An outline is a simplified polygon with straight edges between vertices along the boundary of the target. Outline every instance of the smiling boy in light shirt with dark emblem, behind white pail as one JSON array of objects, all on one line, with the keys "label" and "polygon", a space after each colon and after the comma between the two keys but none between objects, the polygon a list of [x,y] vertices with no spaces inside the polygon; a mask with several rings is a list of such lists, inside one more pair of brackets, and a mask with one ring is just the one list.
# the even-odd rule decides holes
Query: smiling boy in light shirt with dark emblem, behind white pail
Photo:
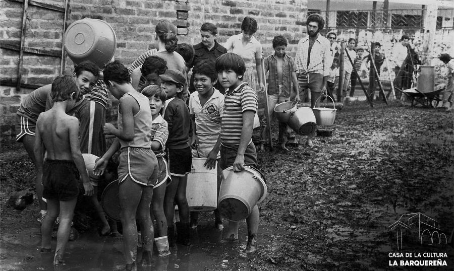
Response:
[{"label": "smiling boy in light shirt with dark emblem, behind white pail", "polygon": [[[219,133],[224,108],[224,95],[214,85],[217,74],[214,61],[197,63],[193,68],[193,84],[196,91],[189,97],[189,112],[192,119],[193,134],[191,137],[192,158],[206,158],[204,166],[212,169],[219,162]],[[221,169],[217,167],[217,193],[219,193]],[[191,212],[191,226],[197,227],[198,212]],[[222,230],[222,218],[214,210],[214,226]]]}]

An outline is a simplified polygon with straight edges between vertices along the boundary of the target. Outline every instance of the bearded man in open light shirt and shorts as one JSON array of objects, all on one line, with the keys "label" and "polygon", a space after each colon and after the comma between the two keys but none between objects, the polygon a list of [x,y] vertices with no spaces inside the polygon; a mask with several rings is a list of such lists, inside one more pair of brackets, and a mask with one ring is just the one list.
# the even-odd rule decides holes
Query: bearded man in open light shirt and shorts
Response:
[{"label": "bearded man in open light shirt and shorts", "polygon": [[[319,34],[325,25],[323,17],[319,14],[311,14],[306,20],[306,25],[309,36],[298,43],[295,63],[298,83],[303,91],[310,89],[311,105],[314,107],[321,93],[326,93],[332,57],[329,41]],[[315,129],[308,135],[306,143],[309,147],[313,146],[314,137]]]}]

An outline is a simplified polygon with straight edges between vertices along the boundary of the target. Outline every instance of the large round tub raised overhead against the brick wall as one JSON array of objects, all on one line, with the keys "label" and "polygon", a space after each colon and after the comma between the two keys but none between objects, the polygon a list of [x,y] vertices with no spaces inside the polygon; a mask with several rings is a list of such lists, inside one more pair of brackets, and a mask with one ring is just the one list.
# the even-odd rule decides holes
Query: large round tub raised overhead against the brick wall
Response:
[{"label": "large round tub raised overhead against the brick wall", "polygon": [[75,64],[90,60],[100,68],[117,48],[113,28],[102,20],[84,18],[72,23],[65,32],[65,49]]}]

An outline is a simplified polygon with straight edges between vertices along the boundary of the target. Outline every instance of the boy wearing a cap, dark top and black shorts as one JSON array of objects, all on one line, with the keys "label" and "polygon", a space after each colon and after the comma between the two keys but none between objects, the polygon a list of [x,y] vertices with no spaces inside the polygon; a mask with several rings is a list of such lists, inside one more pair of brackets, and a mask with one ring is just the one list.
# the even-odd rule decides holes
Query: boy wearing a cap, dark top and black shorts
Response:
[{"label": "boy wearing a cap, dark top and black shorts", "polygon": [[161,78],[161,89],[168,100],[164,109],[164,120],[168,124],[168,139],[165,148],[168,150],[169,168],[172,182],[167,186],[164,196],[164,212],[167,218],[167,236],[169,245],[175,247],[174,239],[174,201],[177,202],[180,222],[177,226],[177,243],[189,243],[189,206],[186,199],[188,173],[191,172],[192,154],[189,136],[192,134],[189,108],[183,100],[183,89],[186,77],[177,70],[167,70]]}]

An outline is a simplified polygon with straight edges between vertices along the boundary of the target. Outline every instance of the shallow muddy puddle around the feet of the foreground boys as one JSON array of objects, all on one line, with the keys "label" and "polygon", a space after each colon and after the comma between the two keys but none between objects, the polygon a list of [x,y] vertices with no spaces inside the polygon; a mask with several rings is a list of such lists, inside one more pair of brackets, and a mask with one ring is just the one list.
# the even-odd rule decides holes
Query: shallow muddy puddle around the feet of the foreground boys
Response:
[{"label": "shallow muddy puddle around the feet of the foreground boys", "polygon": [[[226,227],[226,223],[224,223]],[[259,226],[259,248],[272,245],[277,231]],[[239,241],[222,241],[222,231],[211,224],[201,223],[191,231],[192,245],[178,246],[178,251],[168,257],[153,255],[151,266],[137,270],[239,270],[249,269],[249,261],[257,256],[243,253],[247,241],[247,228],[240,224]],[[122,270],[125,266],[121,237],[100,237],[85,232],[76,241],[68,242],[66,264],[54,267],[53,252],[40,252],[40,229],[30,228],[18,234],[2,235],[0,252],[1,270]],[[52,248],[56,240],[52,239]],[[137,262],[141,261],[141,248]],[[260,251],[260,250],[259,250]]]}]

